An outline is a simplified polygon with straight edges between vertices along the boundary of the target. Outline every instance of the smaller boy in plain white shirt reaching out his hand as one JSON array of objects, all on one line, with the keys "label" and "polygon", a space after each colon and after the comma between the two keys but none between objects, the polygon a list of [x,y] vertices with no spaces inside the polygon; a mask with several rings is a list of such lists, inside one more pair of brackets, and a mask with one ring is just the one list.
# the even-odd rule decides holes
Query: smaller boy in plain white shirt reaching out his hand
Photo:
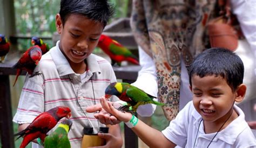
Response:
[{"label": "smaller boy in plain white shirt reaching out his hand", "polygon": [[[198,55],[188,74],[193,100],[161,132],[129,112],[113,108],[104,97],[100,102],[105,111],[125,122],[150,147],[256,147],[244,113],[234,104],[241,102],[246,92],[241,59],[231,51],[211,48]],[[102,109],[97,107],[87,111]],[[100,114],[95,116],[100,118]],[[113,116],[109,119],[117,123]]]}]

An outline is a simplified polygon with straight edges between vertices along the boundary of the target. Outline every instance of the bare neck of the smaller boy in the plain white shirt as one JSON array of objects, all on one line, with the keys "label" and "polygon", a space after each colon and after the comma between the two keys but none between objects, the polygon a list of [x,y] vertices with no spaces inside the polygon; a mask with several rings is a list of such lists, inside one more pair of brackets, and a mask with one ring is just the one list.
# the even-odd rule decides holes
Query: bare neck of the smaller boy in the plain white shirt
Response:
[{"label": "bare neck of the smaller boy in the plain white shirt", "polygon": [[[228,118],[228,120],[226,121],[227,118],[223,119],[223,122],[207,122],[204,121],[204,131],[205,133],[214,133],[214,132],[218,132],[218,130],[220,129],[220,127],[224,124],[224,122],[226,121],[226,123],[223,125],[223,127],[220,129],[223,130],[227,127],[227,125],[229,125],[232,121],[234,121],[235,118],[237,118],[239,115],[237,114],[237,112],[233,109],[232,115],[230,116],[230,118]],[[227,116],[228,117],[228,116]]]}]

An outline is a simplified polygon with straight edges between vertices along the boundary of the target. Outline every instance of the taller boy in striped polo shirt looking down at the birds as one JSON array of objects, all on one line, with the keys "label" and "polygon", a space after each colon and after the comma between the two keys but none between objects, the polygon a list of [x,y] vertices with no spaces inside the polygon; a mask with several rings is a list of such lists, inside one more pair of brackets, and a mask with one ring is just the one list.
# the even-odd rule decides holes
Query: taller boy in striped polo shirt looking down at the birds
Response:
[{"label": "taller boy in striped polo shirt looking down at the birds", "polygon": [[[105,126],[99,125],[93,114],[85,109],[98,103],[105,88],[116,81],[110,63],[92,54],[112,13],[107,0],[60,2],[56,15],[60,40],[43,55],[34,70],[39,74],[26,76],[13,119],[19,124],[18,131],[25,129],[42,112],[58,105],[69,107],[72,112],[71,147],[81,147],[85,126],[92,126],[94,133],[99,131],[99,126]],[[106,146],[121,147],[119,125],[109,128],[109,133],[102,137],[107,141]],[[36,139],[33,142],[32,147],[41,147]]]}]

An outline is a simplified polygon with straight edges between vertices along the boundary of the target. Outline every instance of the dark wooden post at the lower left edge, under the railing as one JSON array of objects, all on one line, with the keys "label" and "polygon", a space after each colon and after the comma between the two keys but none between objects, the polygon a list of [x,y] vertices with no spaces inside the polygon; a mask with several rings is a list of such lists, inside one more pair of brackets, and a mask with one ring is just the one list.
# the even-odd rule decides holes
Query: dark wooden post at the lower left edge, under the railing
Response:
[{"label": "dark wooden post at the lower left edge, under the railing", "polygon": [[14,147],[9,75],[0,75],[0,130],[3,148]]}]

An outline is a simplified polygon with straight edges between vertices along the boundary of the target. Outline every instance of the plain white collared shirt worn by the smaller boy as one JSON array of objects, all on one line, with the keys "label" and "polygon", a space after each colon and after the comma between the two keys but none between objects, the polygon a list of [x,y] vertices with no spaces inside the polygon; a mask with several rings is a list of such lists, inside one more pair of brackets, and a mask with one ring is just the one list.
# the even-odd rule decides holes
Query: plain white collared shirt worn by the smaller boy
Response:
[{"label": "plain white collared shirt worn by the smaller boy", "polygon": [[[256,147],[255,137],[245,121],[244,112],[237,105],[234,105],[234,110],[239,116],[216,135],[209,147]],[[162,133],[181,147],[207,147],[216,132],[205,133],[203,122],[200,124],[201,119],[190,101]]]}]

